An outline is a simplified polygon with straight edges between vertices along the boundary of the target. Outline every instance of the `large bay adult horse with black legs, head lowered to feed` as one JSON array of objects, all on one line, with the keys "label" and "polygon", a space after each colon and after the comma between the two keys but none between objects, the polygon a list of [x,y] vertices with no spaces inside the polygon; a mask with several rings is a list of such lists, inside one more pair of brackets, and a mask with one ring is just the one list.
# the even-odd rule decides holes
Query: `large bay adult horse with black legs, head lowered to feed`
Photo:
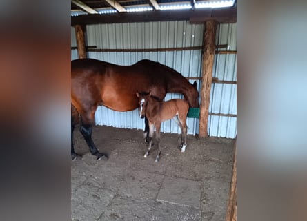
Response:
[{"label": "large bay adult horse with black legs, head lowered to feed", "polygon": [[199,106],[196,81],[190,84],[176,70],[155,61],[141,60],[131,66],[119,66],[95,59],[77,59],[71,62],[71,80],[72,160],[77,158],[73,145],[76,117],[80,118],[80,132],[92,155],[97,160],[108,157],[99,153],[92,141],[92,125],[99,105],[115,111],[132,111],[139,106],[137,91],[150,90],[159,99],[164,99],[168,92],[182,93],[191,107]]}]

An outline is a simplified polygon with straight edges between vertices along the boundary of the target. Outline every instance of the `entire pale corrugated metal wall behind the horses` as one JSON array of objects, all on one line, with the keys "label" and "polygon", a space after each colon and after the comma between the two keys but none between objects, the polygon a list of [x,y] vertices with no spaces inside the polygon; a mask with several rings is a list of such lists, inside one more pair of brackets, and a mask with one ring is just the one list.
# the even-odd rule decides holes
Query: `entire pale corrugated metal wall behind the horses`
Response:
[{"label": "entire pale corrugated metal wall behind the horses", "polygon": [[[236,50],[235,24],[218,27],[217,44],[228,44],[228,50]],[[152,49],[178,48],[203,45],[204,26],[190,24],[189,21],[163,21],[148,23],[116,23],[86,26],[88,46],[99,49]],[[72,28],[72,46],[76,46],[75,29]],[[184,77],[201,77],[201,50],[176,50],[167,52],[88,52],[88,57],[114,64],[130,65],[141,59],[150,59],[174,68]],[[77,50],[72,50],[72,59],[77,59]],[[236,80],[236,56],[217,55],[213,77],[220,80]],[[192,83],[194,80],[190,80]],[[197,88],[200,91],[200,80]],[[237,90],[230,84],[212,84],[210,112],[236,114]],[[166,100],[182,98],[179,94],[166,95]],[[231,107],[230,107],[231,106]],[[96,124],[119,128],[143,129],[143,119],[137,110],[128,112],[112,111],[99,107],[95,113]],[[236,117],[210,116],[208,131],[210,136],[234,138]],[[199,131],[199,119],[188,118],[188,134]],[[225,127],[225,128],[224,128]],[[164,122],[161,131],[180,133],[173,121]]]}]

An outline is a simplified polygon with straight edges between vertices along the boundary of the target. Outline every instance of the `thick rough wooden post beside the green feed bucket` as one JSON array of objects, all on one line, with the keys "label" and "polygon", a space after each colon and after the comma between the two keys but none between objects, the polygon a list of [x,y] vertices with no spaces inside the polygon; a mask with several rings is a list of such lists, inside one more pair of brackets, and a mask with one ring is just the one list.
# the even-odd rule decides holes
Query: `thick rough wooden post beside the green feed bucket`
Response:
[{"label": "thick rough wooden post beside the green feed bucket", "polygon": [[210,104],[210,89],[212,82],[212,70],[215,60],[215,35],[217,32],[217,22],[206,21],[204,35],[204,56],[201,80],[201,104],[199,114],[199,137],[208,136],[208,115]]}]

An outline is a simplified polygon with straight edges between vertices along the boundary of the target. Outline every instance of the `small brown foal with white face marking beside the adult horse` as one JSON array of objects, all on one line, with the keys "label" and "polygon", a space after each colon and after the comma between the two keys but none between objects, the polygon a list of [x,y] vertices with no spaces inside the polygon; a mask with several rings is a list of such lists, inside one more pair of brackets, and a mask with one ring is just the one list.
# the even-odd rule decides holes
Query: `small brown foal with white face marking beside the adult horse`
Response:
[{"label": "small brown foal with white face marking beside the adult horse", "polygon": [[152,137],[156,128],[156,140],[157,140],[157,156],[155,162],[159,161],[160,151],[160,129],[161,122],[165,122],[168,119],[175,119],[175,122],[181,129],[181,144],[179,149],[181,152],[186,151],[186,133],[188,127],[186,126],[186,116],[188,114],[188,102],[183,99],[171,99],[167,102],[163,102],[157,97],[151,96],[151,93],[138,93],[139,97],[139,117],[147,117],[149,124],[149,143],[148,151],[144,157],[149,155],[149,151],[152,146]]}]

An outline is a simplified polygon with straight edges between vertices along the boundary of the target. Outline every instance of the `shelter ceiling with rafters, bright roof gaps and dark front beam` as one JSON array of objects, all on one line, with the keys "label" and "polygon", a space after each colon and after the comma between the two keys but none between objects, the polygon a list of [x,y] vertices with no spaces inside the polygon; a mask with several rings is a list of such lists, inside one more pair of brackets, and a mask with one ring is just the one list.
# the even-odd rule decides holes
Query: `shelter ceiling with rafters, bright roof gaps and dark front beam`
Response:
[{"label": "shelter ceiling with rafters, bright roof gaps and dark front beam", "polygon": [[[226,3],[226,5],[222,5]],[[215,19],[233,23],[236,0],[71,0],[72,26],[91,23]]]}]

